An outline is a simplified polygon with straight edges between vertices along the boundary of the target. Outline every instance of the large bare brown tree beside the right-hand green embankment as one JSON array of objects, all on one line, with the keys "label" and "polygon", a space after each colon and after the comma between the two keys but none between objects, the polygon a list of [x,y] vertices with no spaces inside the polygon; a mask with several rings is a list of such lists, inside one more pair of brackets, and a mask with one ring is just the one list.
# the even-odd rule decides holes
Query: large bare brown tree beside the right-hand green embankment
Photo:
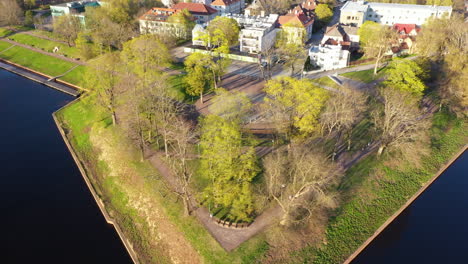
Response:
[{"label": "large bare brown tree beside the right-hand green embankment", "polygon": [[399,148],[422,138],[429,128],[426,117],[419,110],[417,98],[397,89],[380,90],[383,106],[373,112],[374,125],[379,132],[381,155],[386,148]]}]

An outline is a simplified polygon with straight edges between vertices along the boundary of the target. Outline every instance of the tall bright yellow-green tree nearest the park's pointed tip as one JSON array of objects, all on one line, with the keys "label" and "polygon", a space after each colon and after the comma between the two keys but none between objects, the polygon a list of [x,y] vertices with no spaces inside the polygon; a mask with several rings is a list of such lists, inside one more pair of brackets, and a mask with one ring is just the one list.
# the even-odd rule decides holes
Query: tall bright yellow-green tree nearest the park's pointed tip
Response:
[{"label": "tall bright yellow-green tree nearest the park's pointed tip", "polygon": [[200,173],[211,179],[204,197],[216,207],[229,208],[231,217],[237,220],[251,220],[250,185],[259,173],[253,147],[242,147],[237,121],[208,115],[202,120],[201,132]]}]

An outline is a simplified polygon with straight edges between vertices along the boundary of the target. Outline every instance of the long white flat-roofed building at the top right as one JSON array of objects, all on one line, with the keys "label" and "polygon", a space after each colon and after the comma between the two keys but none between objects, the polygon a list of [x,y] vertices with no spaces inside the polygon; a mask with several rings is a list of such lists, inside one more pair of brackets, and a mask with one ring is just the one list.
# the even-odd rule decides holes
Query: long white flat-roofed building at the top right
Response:
[{"label": "long white flat-roofed building at the top right", "polygon": [[450,17],[451,14],[451,6],[348,1],[341,8],[340,23],[358,27],[365,21],[389,26],[397,23],[422,25],[429,18]]}]

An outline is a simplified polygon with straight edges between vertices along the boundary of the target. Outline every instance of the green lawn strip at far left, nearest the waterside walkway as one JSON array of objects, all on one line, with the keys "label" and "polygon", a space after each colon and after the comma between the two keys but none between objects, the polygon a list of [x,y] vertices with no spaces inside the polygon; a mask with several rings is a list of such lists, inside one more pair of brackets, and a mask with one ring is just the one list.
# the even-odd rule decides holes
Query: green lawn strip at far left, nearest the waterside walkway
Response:
[{"label": "green lawn strip at far left, nearest the waterside walkway", "polygon": [[0,53],[0,58],[50,76],[59,76],[76,65],[18,46]]}]

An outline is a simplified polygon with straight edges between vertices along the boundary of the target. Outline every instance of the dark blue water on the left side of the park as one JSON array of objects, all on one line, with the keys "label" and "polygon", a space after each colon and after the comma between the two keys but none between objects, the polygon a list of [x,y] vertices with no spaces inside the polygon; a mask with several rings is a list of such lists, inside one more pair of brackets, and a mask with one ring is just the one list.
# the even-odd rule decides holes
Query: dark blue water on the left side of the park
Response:
[{"label": "dark blue water on the left side of the park", "polygon": [[0,70],[0,263],[131,263],[53,122],[72,99]]}]

